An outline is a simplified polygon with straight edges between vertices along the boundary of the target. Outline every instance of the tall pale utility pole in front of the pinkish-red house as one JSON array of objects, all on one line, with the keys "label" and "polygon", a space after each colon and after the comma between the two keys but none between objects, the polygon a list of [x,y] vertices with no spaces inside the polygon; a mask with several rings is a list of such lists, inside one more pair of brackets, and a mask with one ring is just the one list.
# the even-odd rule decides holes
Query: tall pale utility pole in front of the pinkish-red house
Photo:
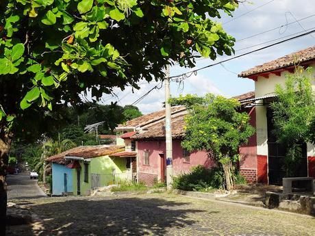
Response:
[{"label": "tall pale utility pole in front of the pinkish-red house", "polygon": [[165,79],[165,139],[166,139],[166,185],[170,189],[172,187],[173,176],[173,144],[171,129],[171,88],[170,88],[170,66],[166,68]]}]

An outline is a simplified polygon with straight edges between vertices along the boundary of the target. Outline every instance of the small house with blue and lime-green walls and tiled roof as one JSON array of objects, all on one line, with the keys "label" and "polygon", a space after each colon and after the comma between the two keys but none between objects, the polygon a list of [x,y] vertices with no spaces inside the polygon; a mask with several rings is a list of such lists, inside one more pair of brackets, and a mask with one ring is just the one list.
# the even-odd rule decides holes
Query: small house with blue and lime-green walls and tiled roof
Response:
[{"label": "small house with blue and lime-green walls and tiled roof", "polygon": [[123,146],[79,146],[49,157],[53,195],[88,196],[95,187],[131,181]]}]

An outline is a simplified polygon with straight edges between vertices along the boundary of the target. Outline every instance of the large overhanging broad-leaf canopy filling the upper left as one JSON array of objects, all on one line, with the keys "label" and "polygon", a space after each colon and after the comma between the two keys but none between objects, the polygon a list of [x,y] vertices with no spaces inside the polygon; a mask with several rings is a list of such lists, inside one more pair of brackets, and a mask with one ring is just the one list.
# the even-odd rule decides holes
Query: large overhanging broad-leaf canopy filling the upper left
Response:
[{"label": "large overhanging broad-leaf canopy filling the upper left", "polygon": [[[164,77],[171,62],[231,55],[234,38],[220,23],[238,3],[215,1],[6,0],[0,3],[0,119],[26,120],[22,109],[58,109],[97,100],[112,88],[138,88]],[[3,125],[2,125],[3,126]]]}]

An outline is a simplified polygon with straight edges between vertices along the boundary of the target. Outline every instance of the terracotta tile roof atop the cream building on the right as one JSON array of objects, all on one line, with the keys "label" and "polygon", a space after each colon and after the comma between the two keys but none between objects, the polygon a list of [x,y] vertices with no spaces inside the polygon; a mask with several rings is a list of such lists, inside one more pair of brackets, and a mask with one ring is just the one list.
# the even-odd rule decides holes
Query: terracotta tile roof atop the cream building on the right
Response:
[{"label": "terracotta tile roof atop the cream building on the right", "polygon": [[246,78],[250,75],[267,73],[273,70],[294,66],[294,64],[301,64],[309,61],[315,61],[315,46],[280,57],[277,60],[266,62],[260,66],[255,66],[254,68],[243,71],[240,75],[238,75],[238,77]]}]

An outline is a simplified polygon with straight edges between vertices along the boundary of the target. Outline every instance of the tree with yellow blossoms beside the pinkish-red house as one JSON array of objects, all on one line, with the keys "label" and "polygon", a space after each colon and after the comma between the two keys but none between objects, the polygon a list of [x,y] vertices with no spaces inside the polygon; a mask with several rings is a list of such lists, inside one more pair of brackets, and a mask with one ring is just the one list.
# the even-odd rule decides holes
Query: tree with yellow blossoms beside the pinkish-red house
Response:
[{"label": "tree with yellow blossoms beside the pinkish-red house", "polygon": [[173,103],[186,105],[186,133],[181,146],[189,151],[206,150],[225,172],[227,189],[233,188],[234,167],[238,148],[248,142],[255,129],[249,124],[247,112],[240,111],[236,99],[207,94],[180,96]]}]

